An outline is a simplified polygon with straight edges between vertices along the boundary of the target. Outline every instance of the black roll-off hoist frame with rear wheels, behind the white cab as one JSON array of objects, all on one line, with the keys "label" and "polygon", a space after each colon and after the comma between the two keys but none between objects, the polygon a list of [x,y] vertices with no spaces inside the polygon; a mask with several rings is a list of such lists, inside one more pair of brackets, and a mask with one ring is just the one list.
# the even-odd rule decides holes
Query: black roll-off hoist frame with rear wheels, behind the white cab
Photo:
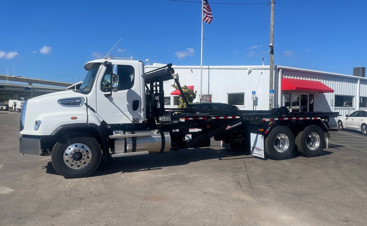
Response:
[{"label": "black roll-off hoist frame with rear wheels, behind the white cab", "polygon": [[[164,108],[163,82],[174,79],[185,101],[184,109]],[[254,149],[250,136],[264,140],[269,158],[287,159],[296,146],[303,156],[319,156],[327,148],[328,121],[337,112],[289,112],[287,107],[272,110],[193,109],[190,107],[172,64],[145,74],[147,99],[146,127],[168,130],[171,150],[210,146],[210,138],[232,148]],[[149,86],[148,86],[149,85]],[[148,91],[147,90],[147,91]],[[254,150],[251,150],[253,153]]]}]

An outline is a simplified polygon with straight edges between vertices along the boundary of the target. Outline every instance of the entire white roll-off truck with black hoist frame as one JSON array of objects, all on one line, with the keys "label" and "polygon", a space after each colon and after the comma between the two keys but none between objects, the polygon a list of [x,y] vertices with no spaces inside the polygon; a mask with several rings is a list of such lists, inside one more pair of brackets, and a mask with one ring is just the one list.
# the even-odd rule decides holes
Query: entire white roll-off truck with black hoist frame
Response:
[{"label": "entire white roll-off truck with black hoist frame", "polygon": [[[116,57],[84,65],[78,92],[62,91],[23,103],[21,153],[51,154],[65,178],[90,175],[101,157],[165,153],[210,146],[210,139],[250,150],[260,158],[284,160],[292,152],[319,156],[327,148],[334,112],[177,109],[164,107],[163,82],[174,80],[187,101],[172,64],[144,72],[141,61]],[[41,106],[50,106],[42,109]]]}]

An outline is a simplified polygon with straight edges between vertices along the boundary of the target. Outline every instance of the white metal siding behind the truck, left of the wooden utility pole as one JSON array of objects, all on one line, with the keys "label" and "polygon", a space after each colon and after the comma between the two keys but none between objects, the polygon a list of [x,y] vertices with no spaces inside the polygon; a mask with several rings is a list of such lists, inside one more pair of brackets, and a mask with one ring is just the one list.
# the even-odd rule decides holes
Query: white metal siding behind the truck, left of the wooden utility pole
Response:
[{"label": "white metal siding behind the truck, left of the wooden utility pole", "polygon": [[[245,93],[245,105],[241,110],[252,110],[251,92],[256,91],[258,97],[256,110],[267,110],[269,108],[269,66],[264,68],[251,66],[240,66],[229,68],[230,66],[203,66],[203,95],[211,94],[212,102],[227,103],[227,94]],[[157,68],[145,66],[146,71]],[[200,95],[200,67],[195,66],[172,66],[175,73],[178,73],[181,86],[194,85],[196,99],[199,102]],[[249,74],[247,68],[252,71]],[[192,70],[192,71],[191,71]],[[170,96],[175,88],[171,87],[174,80],[169,80],[163,84],[165,94]],[[173,98],[171,98],[173,106]]]}]

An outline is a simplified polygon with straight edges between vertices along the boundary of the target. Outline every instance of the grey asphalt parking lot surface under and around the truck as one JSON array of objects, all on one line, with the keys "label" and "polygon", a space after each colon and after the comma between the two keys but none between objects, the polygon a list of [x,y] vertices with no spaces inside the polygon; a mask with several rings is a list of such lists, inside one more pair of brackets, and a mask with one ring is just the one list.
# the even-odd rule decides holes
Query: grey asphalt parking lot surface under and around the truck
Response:
[{"label": "grey asphalt parking lot surface under and around the truck", "polygon": [[19,117],[0,113],[0,225],[367,222],[367,139],[355,132],[333,132],[315,158],[262,160],[212,141],[102,161],[89,178],[65,179],[50,156],[19,153]]}]

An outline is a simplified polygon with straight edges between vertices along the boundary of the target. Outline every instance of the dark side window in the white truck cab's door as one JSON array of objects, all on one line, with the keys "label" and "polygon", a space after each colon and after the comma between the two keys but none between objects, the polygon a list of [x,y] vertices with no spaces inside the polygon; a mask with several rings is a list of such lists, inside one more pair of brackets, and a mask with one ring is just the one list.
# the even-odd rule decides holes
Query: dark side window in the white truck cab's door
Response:
[{"label": "dark side window in the white truck cab's door", "polygon": [[[106,69],[101,83],[102,92],[110,92],[110,80],[112,74],[112,66]],[[117,76],[119,77],[119,82],[117,84],[118,90],[128,90],[134,85],[134,67],[130,65],[118,65],[117,66]]]}]

